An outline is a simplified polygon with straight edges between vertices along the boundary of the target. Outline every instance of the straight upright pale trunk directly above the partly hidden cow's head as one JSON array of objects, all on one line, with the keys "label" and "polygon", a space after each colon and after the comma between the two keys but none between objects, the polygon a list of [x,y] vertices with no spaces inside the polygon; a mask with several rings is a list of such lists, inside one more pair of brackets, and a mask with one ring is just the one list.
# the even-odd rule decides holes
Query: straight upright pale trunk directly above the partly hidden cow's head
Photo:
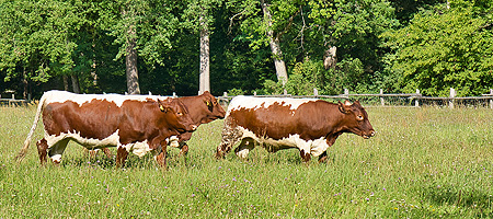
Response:
[{"label": "straight upright pale trunk directly above the partly hidden cow's head", "polygon": [[198,93],[202,94],[205,91],[210,91],[210,77],[209,77],[209,27],[205,20],[204,12],[200,14],[200,69],[199,69],[199,83]]}]

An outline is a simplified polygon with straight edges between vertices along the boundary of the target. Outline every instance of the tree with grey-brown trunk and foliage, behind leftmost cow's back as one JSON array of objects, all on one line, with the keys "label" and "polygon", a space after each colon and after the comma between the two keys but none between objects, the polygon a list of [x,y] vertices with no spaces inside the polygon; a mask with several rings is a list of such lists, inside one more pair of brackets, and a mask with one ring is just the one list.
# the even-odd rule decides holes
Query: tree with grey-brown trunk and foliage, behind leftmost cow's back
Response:
[{"label": "tree with grey-brown trunk and foliage, behind leftmost cow's back", "polygon": [[179,20],[173,13],[174,1],[119,0],[103,1],[100,21],[103,30],[119,45],[116,59],[126,57],[128,93],[139,93],[139,57],[146,66],[163,65],[162,53],[171,48]]}]

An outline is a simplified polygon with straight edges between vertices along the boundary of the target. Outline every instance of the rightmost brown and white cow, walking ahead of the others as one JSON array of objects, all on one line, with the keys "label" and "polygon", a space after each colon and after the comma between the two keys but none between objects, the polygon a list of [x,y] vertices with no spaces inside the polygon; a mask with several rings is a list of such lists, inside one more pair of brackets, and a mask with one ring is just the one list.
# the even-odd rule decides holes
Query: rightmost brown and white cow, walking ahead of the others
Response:
[{"label": "rightmost brown and white cow, walking ahead of the others", "polygon": [[241,140],[234,152],[243,159],[260,143],[270,152],[297,148],[303,162],[311,155],[320,155],[323,162],[326,149],[343,132],[375,136],[358,101],[333,104],[317,99],[237,96],[226,113],[216,158],[223,158]]}]

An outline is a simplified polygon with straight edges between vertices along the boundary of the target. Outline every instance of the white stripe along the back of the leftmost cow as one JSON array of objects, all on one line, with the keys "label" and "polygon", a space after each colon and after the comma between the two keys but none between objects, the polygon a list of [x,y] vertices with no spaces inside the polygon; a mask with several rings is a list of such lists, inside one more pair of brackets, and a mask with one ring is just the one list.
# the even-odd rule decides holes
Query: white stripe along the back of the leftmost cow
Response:
[{"label": "white stripe along the back of the leftmost cow", "polygon": [[122,107],[122,104],[128,100],[145,102],[148,99],[151,100],[159,99],[161,101],[168,99],[165,96],[158,96],[158,95],[77,94],[67,91],[48,91],[45,92],[44,95],[46,95],[45,104],[65,103],[67,101],[72,101],[78,103],[79,106],[82,106],[84,103],[90,103],[93,100],[101,100],[101,101],[105,100],[107,102],[114,102],[118,107]]}]

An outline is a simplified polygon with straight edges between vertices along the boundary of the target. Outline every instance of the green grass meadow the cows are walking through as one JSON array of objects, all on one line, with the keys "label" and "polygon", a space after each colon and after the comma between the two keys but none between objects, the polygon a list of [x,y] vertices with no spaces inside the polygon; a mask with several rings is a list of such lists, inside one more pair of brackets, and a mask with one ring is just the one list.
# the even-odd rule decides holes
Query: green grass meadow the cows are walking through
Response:
[{"label": "green grass meadow the cows are walking through", "polygon": [[493,218],[489,108],[369,107],[376,137],[343,135],[308,166],[297,150],[262,148],[217,161],[216,120],[186,160],[169,149],[167,171],[150,154],[115,169],[73,142],[60,166],[41,168],[42,126],[19,164],[34,112],[0,108],[0,218]]}]

